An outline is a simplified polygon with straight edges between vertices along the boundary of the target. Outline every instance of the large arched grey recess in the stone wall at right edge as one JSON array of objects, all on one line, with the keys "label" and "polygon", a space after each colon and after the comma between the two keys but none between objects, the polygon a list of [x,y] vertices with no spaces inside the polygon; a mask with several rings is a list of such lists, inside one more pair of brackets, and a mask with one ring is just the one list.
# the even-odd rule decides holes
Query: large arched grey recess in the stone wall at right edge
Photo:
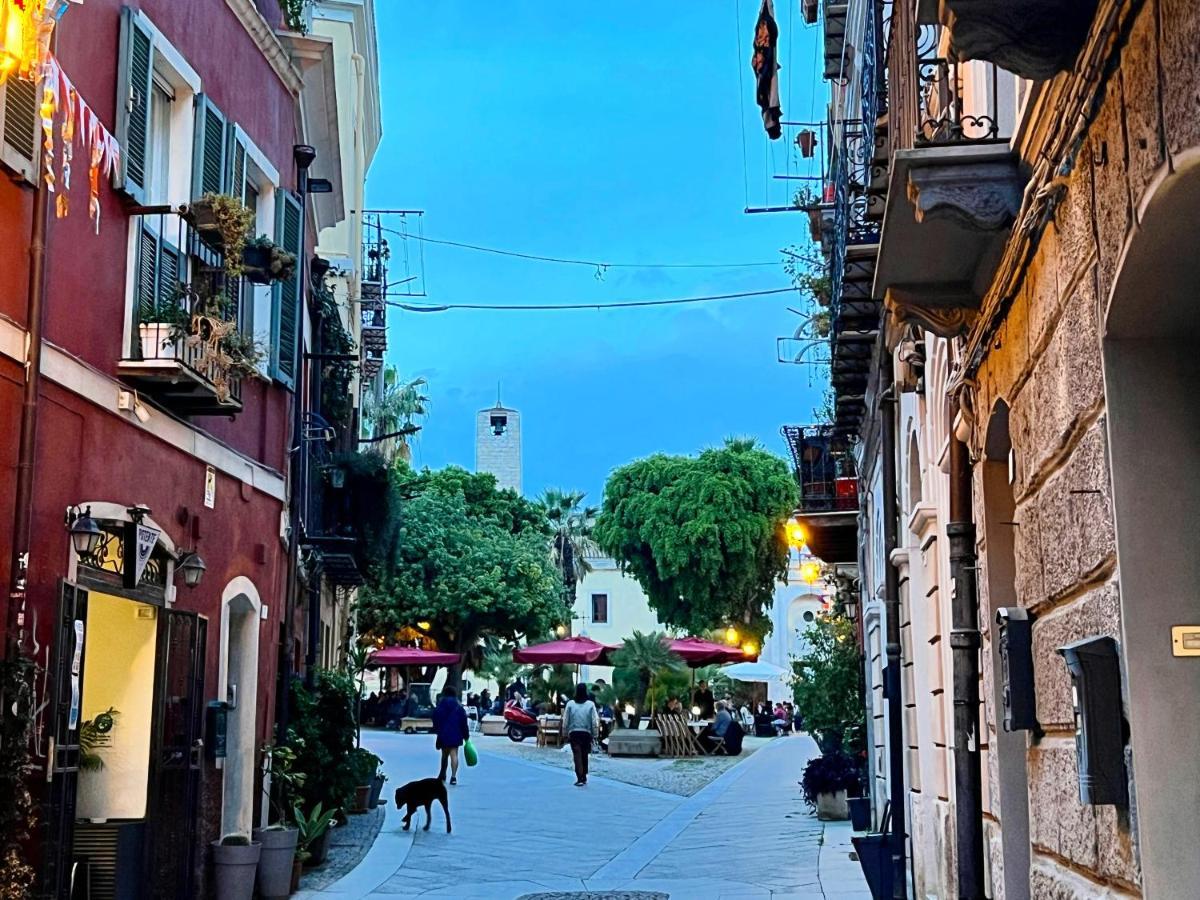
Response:
[{"label": "large arched grey recess in the stone wall at right edge", "polygon": [[[1200,883],[1200,659],[1172,628],[1200,623],[1200,148],[1146,191],[1109,298],[1104,391],[1142,889]],[[1103,470],[1098,473],[1103,476]]]}]

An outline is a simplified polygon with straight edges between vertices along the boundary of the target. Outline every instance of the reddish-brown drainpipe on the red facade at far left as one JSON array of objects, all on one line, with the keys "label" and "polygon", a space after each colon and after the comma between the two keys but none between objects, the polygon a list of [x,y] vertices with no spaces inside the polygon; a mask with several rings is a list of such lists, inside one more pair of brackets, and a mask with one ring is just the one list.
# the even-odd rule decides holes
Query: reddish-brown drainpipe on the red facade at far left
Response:
[{"label": "reddish-brown drainpipe on the red facade at far left", "polygon": [[50,192],[43,175],[46,157],[41,145],[35,164],[37,190],[29,239],[29,293],[25,313],[25,385],[20,403],[20,438],[17,451],[17,490],[12,516],[12,559],[8,569],[8,605],[5,620],[5,659],[16,661],[25,653],[25,598],[29,588],[29,553],[34,524],[34,467],[37,462],[37,401],[42,388],[42,332],[46,325],[46,223]]}]

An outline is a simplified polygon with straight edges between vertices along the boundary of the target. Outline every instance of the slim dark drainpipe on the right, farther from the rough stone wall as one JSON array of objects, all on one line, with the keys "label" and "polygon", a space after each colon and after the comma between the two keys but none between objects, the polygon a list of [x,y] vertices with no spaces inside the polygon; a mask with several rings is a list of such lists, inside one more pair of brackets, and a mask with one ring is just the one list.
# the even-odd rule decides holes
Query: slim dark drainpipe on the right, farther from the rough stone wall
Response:
[{"label": "slim dark drainpipe on the right, farther from the rough stone wall", "polygon": [[887,658],[883,696],[888,701],[888,772],[892,800],[892,896],[908,896],[905,865],[904,691],[900,674],[900,572],[892,565],[896,548],[896,394],[892,352],[884,347],[880,361],[880,424],[883,463],[883,602],[887,608]]}]

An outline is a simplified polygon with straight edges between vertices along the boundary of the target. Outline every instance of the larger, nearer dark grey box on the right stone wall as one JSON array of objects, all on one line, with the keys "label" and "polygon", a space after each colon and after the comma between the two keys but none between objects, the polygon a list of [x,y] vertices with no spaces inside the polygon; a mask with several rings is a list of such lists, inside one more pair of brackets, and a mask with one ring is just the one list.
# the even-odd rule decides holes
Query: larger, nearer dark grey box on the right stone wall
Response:
[{"label": "larger, nearer dark grey box on the right stone wall", "polygon": [[1079,802],[1124,806],[1129,790],[1117,642],[1111,637],[1085,637],[1060,647],[1058,653],[1070,672]]}]

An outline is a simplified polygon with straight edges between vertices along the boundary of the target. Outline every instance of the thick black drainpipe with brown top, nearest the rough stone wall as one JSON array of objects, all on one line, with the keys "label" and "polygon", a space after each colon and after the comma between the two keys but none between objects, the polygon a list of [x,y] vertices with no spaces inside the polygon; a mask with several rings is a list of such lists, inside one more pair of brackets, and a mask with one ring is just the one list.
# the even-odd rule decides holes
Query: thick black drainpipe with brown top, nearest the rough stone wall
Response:
[{"label": "thick black drainpipe with brown top, nearest the rough stone wall", "polygon": [[950,434],[950,655],[954,665],[954,835],[962,900],[983,892],[983,780],[979,764],[979,600],[971,511],[971,460]]}]

